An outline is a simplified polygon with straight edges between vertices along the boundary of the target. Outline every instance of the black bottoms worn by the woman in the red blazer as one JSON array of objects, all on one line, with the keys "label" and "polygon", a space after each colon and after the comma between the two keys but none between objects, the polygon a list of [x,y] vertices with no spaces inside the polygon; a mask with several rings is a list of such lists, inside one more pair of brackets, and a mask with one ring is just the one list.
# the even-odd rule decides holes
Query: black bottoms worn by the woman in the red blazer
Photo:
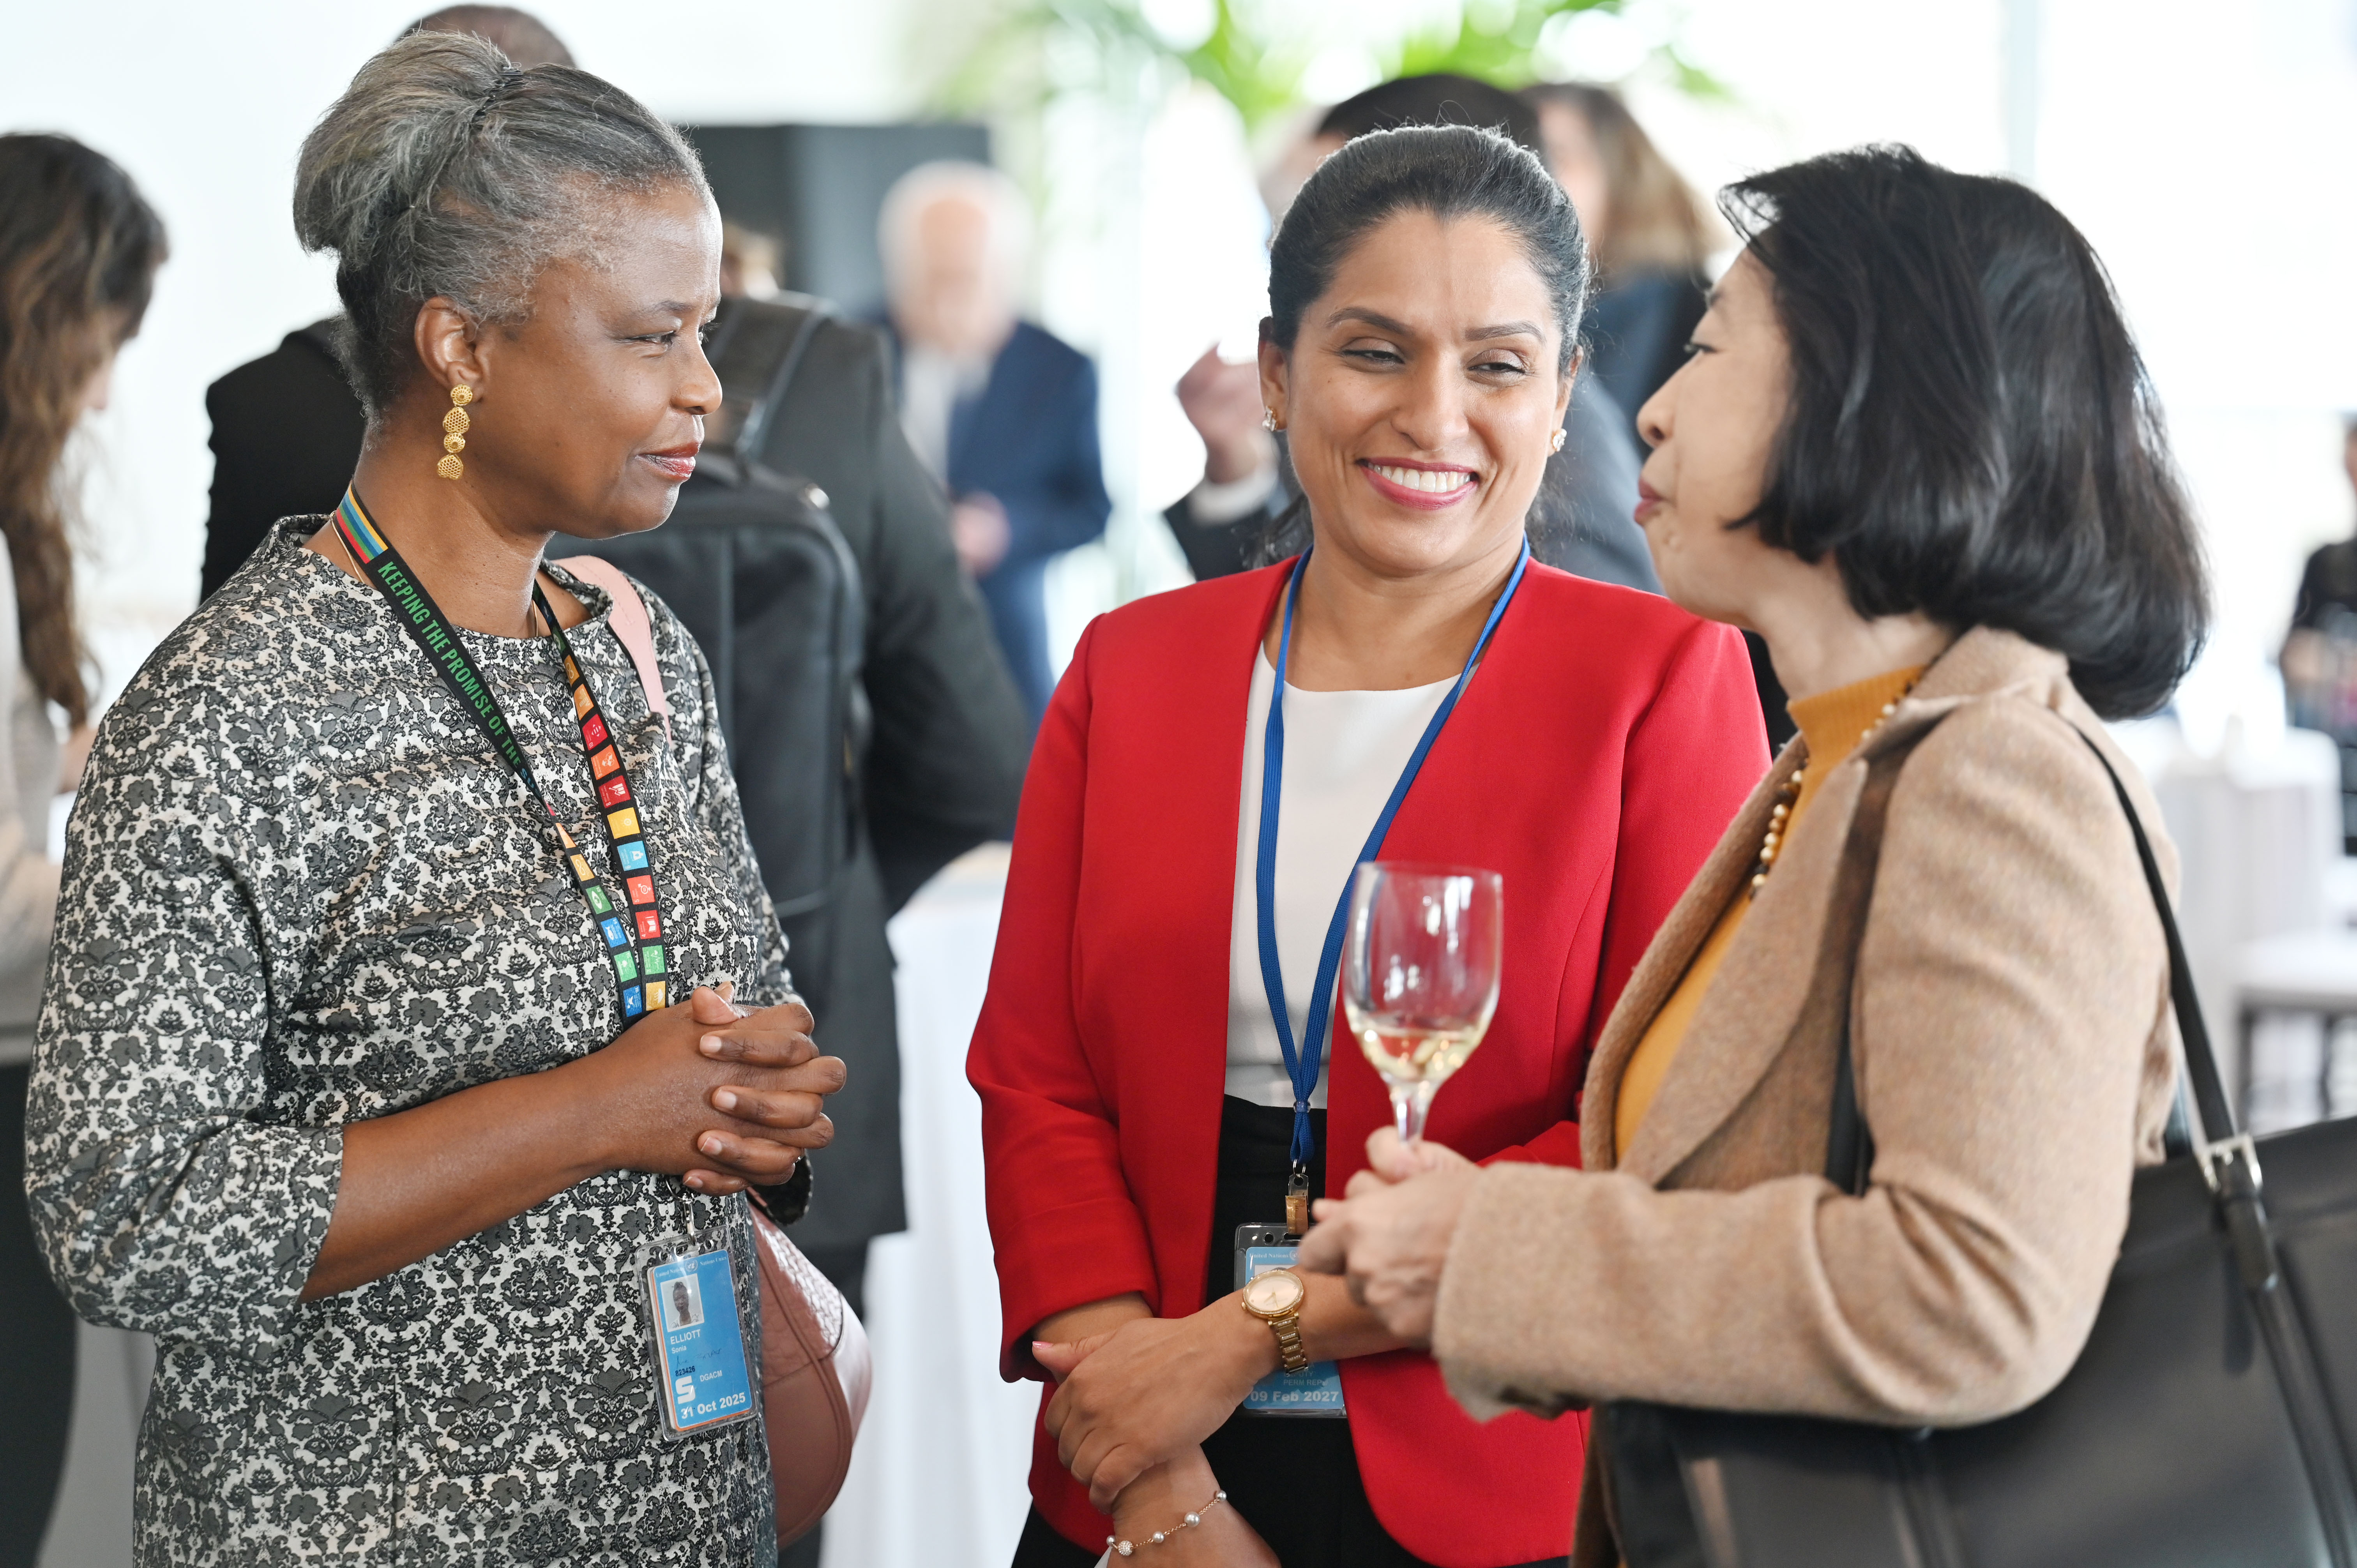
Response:
[{"label": "black bottoms worn by the woman in the red blazer", "polygon": [[[1325,1111],[1310,1111],[1310,1132],[1318,1144],[1310,1158],[1315,1200],[1325,1198]],[[1235,1290],[1235,1226],[1285,1221],[1292,1141],[1292,1111],[1233,1096],[1221,1106],[1204,1304]],[[1228,1493],[1228,1504],[1285,1568],[1426,1568],[1374,1516],[1351,1448],[1351,1422],[1230,1415],[1226,1427],[1204,1438],[1202,1452]],[[1570,1533],[1572,1521],[1565,1518],[1565,1540]],[[1014,1568],[1089,1568],[1101,1551],[1103,1544],[1075,1547],[1032,1509]]]}]

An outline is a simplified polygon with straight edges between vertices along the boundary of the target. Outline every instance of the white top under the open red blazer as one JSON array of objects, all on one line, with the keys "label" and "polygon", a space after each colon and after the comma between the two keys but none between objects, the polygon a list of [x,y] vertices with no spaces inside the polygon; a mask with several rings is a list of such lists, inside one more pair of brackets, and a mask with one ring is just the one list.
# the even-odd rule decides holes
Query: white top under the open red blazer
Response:
[{"label": "white top under the open red blazer", "polygon": [[[1358,851],[1367,844],[1376,813],[1400,783],[1400,769],[1424,738],[1454,677],[1402,691],[1301,691],[1285,686],[1285,799],[1277,802],[1277,957],[1285,967],[1285,1012],[1292,1014],[1294,1047],[1303,1045],[1310,990],[1318,983],[1318,950],[1325,946],[1334,903],[1351,882]],[[1268,653],[1254,660],[1252,703],[1244,717],[1244,797],[1235,825],[1235,913],[1228,934],[1228,1094],[1259,1106],[1287,1108],[1294,1085],[1285,1075],[1285,1049],[1268,1014],[1261,983],[1261,927],[1254,865],[1261,846],[1261,757],[1268,733],[1268,698],[1277,672]],[[1334,1007],[1341,1007],[1336,1000]],[[1327,1014],[1332,1019],[1332,1014]],[[1327,1075],[1318,1075],[1313,1106],[1327,1103]]]}]

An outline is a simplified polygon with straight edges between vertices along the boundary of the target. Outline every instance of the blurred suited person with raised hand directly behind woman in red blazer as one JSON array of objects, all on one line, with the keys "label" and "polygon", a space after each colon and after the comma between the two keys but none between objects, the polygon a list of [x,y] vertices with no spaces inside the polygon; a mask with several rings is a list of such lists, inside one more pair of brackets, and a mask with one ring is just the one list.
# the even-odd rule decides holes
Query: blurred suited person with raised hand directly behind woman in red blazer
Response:
[{"label": "blurred suited person with raised hand directly behind woman in red blazer", "polygon": [[[1485,125],[1541,153],[1539,118],[1511,92],[1471,75],[1402,75],[1343,99],[1320,116],[1287,160],[1315,167],[1334,149],[1393,125]],[[1299,186],[1294,186],[1299,189]],[[1287,191],[1289,196],[1289,191]],[[1273,215],[1282,219],[1282,212]],[[1584,219],[1582,219],[1584,222]],[[1301,547],[1299,516],[1280,521],[1299,495],[1282,443],[1261,429],[1259,365],[1228,365],[1216,349],[1178,380],[1178,408],[1202,436],[1202,483],[1164,512],[1195,578],[1266,566]],[[1636,450],[1626,410],[1589,370],[1582,351],[1565,441],[1539,481],[1530,514],[1537,559],[1596,582],[1659,592],[1636,519]]]}]

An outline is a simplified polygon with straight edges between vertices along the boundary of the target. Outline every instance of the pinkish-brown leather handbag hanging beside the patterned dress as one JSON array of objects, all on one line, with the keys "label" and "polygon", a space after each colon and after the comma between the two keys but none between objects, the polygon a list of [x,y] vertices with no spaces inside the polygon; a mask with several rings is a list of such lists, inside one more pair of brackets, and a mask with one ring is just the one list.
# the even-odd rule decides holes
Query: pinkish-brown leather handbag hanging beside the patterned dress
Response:
[{"label": "pinkish-brown leather handbag hanging beside the patterned dress", "polygon": [[752,1212],[761,1261],[761,1419],[778,1488],[778,1544],[808,1533],[844,1490],[867,1412],[867,1332],[785,1231]]}]

